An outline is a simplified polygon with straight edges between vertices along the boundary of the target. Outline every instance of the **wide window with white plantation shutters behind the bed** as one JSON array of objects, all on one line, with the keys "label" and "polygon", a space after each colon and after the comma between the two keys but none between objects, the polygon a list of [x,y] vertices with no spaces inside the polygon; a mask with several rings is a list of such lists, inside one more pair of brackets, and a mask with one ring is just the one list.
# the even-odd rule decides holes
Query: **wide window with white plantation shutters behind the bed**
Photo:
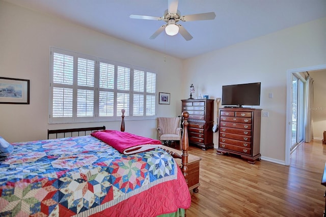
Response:
[{"label": "wide window with white plantation shutters behind the bed", "polygon": [[156,74],[51,48],[49,122],[120,120],[121,109],[131,119],[156,112]]}]

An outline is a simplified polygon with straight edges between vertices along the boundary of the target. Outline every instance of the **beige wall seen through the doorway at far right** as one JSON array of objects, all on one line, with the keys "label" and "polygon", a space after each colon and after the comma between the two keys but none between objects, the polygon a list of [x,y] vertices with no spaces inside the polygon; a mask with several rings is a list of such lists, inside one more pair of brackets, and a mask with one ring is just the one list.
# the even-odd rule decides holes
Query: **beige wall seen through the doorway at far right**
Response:
[{"label": "beige wall seen through the doorway at far right", "polygon": [[313,78],[313,138],[323,139],[326,131],[326,70],[309,72]]}]

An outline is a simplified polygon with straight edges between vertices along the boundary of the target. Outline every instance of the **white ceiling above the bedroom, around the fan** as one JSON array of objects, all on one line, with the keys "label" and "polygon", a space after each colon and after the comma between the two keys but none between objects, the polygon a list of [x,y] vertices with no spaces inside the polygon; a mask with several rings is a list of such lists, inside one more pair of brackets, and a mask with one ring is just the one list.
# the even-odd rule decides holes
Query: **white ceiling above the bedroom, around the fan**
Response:
[{"label": "white ceiling above the bedroom, around the fan", "polygon": [[326,0],[179,0],[182,15],[214,12],[214,20],[179,21],[194,37],[161,33],[149,37],[160,20],[130,19],[130,14],[162,17],[168,0],[5,0],[58,16],[106,35],[178,58],[197,56],[280,29],[326,17]]}]

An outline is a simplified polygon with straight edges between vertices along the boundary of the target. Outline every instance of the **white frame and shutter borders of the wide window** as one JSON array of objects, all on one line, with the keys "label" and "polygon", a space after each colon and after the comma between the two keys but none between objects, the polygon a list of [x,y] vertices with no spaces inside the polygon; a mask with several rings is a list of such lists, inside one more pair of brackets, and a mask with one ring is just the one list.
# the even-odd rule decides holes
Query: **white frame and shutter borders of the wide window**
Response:
[{"label": "white frame and shutter borders of the wide window", "polygon": [[[53,70],[53,65],[54,65],[54,60],[53,56],[55,53],[63,54],[63,55],[69,55],[73,56],[73,83],[72,85],[69,84],[58,84],[53,81],[53,75],[54,75],[54,70]],[[77,70],[78,70],[78,58],[85,58],[87,60],[93,60],[95,61],[94,64],[94,86],[78,86],[77,85]],[[100,87],[100,65],[101,64],[107,64],[110,65],[111,67],[114,66],[114,88],[107,88],[107,87]],[[129,69],[129,89],[128,90],[121,90],[118,88],[117,85],[117,75],[118,75],[118,67],[124,67],[125,69]],[[112,70],[112,68],[111,68]],[[134,91],[133,85],[134,85],[134,72],[135,71],[141,71],[144,72],[144,80],[143,80],[143,85],[144,85],[144,91]],[[131,66],[128,64],[124,63],[119,63],[117,61],[112,61],[100,57],[95,57],[95,56],[90,56],[87,54],[81,54],[69,50],[64,50],[60,48],[55,48],[55,47],[50,47],[50,70],[49,70],[49,123],[78,123],[78,122],[104,122],[104,121],[117,121],[121,120],[121,109],[118,111],[118,95],[119,94],[129,94],[129,107],[125,108],[123,104],[126,102],[124,101],[123,104],[120,107],[123,107],[126,110],[125,113],[125,119],[126,120],[147,120],[147,119],[155,119],[156,118],[156,110],[157,110],[157,97],[156,97],[156,92],[157,92],[157,73],[153,72],[153,70],[148,70],[143,67],[137,67],[137,66]],[[112,73],[112,71],[111,71]],[[149,82],[147,75],[151,73],[150,75],[152,77],[155,77],[155,83]],[[150,77],[150,78],[152,78]],[[151,90],[154,89],[154,92],[147,92],[147,82],[151,84]],[[140,82],[141,83],[141,82]],[[73,91],[73,99],[72,99],[72,117],[53,117],[53,88],[56,87],[71,87]],[[111,83],[112,86],[112,83]],[[77,116],[77,90],[79,89],[89,89],[89,90],[94,90],[94,103],[93,103],[93,116],[83,116],[83,117],[78,117]],[[113,91],[113,114],[112,114],[112,109],[109,108],[110,110],[110,115],[112,116],[103,116],[100,115],[100,91],[102,92],[110,92],[112,93]],[[150,91],[150,90],[149,90]],[[134,109],[134,96],[135,95],[142,95],[143,96],[143,107],[139,107],[139,110],[143,109],[143,114],[138,115],[135,114],[133,115],[133,109]],[[105,93],[104,93],[105,96]],[[151,104],[150,104],[150,110],[154,109],[154,114],[147,113],[147,101],[146,99],[150,96],[151,99]],[[112,98],[111,98],[112,99]],[[155,99],[155,103],[153,104],[152,100]],[[107,102],[107,101],[106,101]],[[154,106],[154,107],[153,107]],[[102,110],[103,111],[103,110]],[[104,109],[105,111],[105,109]]]}]

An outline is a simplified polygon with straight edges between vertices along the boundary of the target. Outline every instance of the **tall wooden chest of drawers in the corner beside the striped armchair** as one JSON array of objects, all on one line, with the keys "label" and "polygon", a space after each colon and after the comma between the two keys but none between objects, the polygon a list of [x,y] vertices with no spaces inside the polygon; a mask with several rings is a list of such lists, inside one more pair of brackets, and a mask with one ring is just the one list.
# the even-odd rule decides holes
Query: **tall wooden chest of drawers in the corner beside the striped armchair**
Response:
[{"label": "tall wooden chest of drawers in the corner beside the striped armchair", "polygon": [[213,148],[213,99],[181,100],[182,111],[189,113],[188,138],[194,144],[206,150]]}]

